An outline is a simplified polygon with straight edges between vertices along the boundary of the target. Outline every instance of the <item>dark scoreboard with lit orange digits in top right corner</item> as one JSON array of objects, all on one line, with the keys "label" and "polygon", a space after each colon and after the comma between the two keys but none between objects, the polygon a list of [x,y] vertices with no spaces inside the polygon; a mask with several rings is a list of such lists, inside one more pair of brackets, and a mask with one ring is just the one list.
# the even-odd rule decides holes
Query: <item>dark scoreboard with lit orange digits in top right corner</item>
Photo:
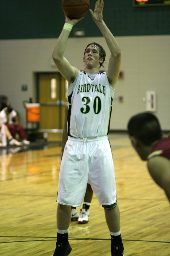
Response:
[{"label": "dark scoreboard with lit orange digits in top right corner", "polygon": [[170,5],[170,0],[132,0],[132,5],[139,6],[166,6]]}]

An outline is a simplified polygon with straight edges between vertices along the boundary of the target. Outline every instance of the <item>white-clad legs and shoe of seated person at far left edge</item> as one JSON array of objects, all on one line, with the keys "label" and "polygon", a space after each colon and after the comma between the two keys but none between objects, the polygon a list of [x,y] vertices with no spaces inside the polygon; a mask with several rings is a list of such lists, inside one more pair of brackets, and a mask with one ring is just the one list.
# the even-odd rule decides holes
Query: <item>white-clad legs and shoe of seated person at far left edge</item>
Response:
[{"label": "white-clad legs and shoe of seated person at far left edge", "polygon": [[21,146],[22,143],[15,140],[11,132],[9,132],[8,127],[5,124],[0,124],[0,147],[6,147],[7,146],[7,139],[9,145],[16,145]]}]

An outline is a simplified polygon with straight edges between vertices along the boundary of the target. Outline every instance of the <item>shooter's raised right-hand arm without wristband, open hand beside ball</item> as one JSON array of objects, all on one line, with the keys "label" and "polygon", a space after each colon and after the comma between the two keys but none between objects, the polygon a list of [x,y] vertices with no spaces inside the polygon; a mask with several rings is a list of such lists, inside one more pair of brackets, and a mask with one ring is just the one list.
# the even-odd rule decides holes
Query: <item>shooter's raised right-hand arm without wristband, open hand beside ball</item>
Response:
[{"label": "shooter's raised right-hand arm without wristband, open hand beside ball", "polygon": [[121,66],[121,49],[112,35],[111,31],[108,29],[107,25],[103,20],[103,8],[104,2],[103,0],[97,0],[94,12],[90,9],[91,17],[99,27],[100,31],[102,32],[105,41],[107,42],[108,48],[111,52],[108,70],[107,70],[107,77],[110,84],[114,87],[116,81],[119,76],[120,66]]}]

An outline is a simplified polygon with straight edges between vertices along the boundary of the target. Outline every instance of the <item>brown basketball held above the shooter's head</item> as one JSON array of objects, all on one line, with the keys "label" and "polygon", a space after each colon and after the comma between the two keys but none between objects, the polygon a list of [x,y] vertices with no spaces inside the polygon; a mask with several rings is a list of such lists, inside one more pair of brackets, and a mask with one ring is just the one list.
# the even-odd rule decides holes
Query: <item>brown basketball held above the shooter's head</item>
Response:
[{"label": "brown basketball held above the shooter's head", "polygon": [[62,0],[62,9],[70,19],[80,19],[85,16],[90,6],[89,0]]}]

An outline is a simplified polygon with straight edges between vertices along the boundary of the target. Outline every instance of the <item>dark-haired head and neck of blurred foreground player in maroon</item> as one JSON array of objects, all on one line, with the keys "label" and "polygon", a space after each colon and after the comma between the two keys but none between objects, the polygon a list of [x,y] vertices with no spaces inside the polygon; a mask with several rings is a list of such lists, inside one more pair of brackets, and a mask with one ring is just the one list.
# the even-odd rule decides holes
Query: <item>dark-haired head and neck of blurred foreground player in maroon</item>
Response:
[{"label": "dark-haired head and neck of blurred foreground player in maroon", "polygon": [[146,160],[144,148],[146,149],[162,138],[158,118],[149,112],[139,113],[130,118],[127,128],[133,147],[142,160]]}]

